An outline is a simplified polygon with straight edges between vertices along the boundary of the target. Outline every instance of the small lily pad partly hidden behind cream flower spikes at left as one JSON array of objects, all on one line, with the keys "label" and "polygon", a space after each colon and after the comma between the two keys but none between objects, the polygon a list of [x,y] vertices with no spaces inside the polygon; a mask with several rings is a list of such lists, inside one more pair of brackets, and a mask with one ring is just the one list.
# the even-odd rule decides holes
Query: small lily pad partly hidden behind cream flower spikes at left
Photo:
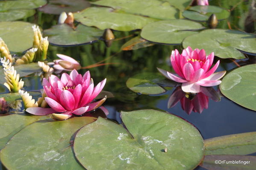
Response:
[{"label": "small lily pad partly hidden behind cream flower spikes at left", "polygon": [[[38,66],[38,63],[20,64],[18,66],[14,66],[14,69],[17,71],[17,74],[20,74],[20,77],[24,77],[41,70],[41,68]],[[3,73],[3,69],[1,69],[0,84],[4,84],[6,82],[4,77],[5,75]]]}]

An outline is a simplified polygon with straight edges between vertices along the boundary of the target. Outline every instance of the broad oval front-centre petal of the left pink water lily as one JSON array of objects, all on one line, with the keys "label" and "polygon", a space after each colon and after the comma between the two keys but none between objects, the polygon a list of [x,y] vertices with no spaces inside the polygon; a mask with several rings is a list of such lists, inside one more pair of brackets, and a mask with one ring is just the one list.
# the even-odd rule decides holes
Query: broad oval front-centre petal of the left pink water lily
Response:
[{"label": "broad oval front-centre petal of the left pink water lily", "polygon": [[75,98],[68,90],[63,90],[60,95],[60,102],[67,110],[73,110],[75,106]]}]

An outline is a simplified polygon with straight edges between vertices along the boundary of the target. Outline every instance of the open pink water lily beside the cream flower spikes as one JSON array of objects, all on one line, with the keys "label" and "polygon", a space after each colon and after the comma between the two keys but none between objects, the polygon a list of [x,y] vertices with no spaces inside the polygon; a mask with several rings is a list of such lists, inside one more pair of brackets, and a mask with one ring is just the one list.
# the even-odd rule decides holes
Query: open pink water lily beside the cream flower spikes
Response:
[{"label": "open pink water lily beside the cream flower spikes", "polygon": [[61,113],[62,115],[82,115],[85,112],[100,107],[105,98],[93,102],[106,84],[106,78],[94,87],[90,72],[83,76],[73,70],[70,75],[63,73],[59,79],[55,75],[43,79],[44,92],[47,94],[45,101],[51,108],[29,107],[26,112],[33,115],[48,115]]}]

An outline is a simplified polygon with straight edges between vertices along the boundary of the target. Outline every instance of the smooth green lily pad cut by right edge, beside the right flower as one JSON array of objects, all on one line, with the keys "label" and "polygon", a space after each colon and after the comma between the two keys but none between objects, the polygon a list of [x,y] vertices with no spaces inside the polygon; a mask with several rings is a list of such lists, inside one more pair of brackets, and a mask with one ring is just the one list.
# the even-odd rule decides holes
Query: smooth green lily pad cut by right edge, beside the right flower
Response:
[{"label": "smooth green lily pad cut by right edge, beside the right flower", "polygon": [[256,64],[242,66],[228,73],[220,86],[222,94],[235,103],[256,110]]}]

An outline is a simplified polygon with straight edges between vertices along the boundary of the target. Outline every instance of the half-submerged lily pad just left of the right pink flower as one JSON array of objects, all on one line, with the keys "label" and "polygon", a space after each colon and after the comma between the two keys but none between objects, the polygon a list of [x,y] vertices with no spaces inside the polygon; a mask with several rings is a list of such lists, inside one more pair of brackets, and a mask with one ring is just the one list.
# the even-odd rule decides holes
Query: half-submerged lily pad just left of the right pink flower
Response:
[{"label": "half-submerged lily pad just left of the right pink flower", "polygon": [[156,95],[166,91],[162,86],[175,86],[176,83],[174,81],[167,81],[165,77],[158,73],[144,72],[130,77],[126,85],[133,92],[144,95]]}]

